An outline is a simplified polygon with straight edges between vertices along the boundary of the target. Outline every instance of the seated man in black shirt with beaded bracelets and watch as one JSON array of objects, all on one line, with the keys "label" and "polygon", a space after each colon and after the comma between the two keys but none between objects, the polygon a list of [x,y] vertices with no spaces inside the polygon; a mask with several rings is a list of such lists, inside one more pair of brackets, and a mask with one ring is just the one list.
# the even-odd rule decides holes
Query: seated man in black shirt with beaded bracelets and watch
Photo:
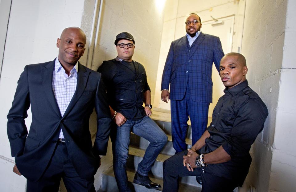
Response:
[{"label": "seated man in black shirt with beaded bracelets and watch", "polygon": [[250,147],[268,116],[265,104],[248,86],[247,72],[243,55],[228,53],[221,59],[225,94],[202,137],[163,163],[163,192],[178,191],[178,178],[184,176],[201,177],[203,192],[233,192],[242,186],[252,161]]}]

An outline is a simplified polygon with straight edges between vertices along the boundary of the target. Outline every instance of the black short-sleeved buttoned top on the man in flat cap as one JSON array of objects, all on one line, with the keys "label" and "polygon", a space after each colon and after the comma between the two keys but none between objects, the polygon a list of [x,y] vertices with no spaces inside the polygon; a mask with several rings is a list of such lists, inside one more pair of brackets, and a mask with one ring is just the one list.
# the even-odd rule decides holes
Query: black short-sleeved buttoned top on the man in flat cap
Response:
[{"label": "black short-sleeved buttoned top on the man in flat cap", "polygon": [[121,61],[118,57],[99,67],[107,90],[109,105],[130,120],[144,117],[143,93],[150,90],[143,65]]}]

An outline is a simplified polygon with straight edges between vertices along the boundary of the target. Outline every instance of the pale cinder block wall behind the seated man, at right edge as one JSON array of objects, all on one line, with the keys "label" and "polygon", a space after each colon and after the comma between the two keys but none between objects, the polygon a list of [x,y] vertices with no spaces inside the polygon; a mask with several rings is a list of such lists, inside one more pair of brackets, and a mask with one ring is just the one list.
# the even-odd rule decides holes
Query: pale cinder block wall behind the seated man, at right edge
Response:
[{"label": "pale cinder block wall behind the seated man, at right edge", "polygon": [[269,116],[251,149],[253,162],[243,189],[252,184],[256,191],[290,192],[296,187],[295,9],[292,0],[246,2],[242,54],[247,79]]}]

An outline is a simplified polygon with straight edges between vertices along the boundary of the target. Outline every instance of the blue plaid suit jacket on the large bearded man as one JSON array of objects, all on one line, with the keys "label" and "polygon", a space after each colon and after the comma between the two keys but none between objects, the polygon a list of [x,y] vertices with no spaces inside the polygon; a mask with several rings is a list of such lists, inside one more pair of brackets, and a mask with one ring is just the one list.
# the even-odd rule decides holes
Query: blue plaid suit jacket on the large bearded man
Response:
[{"label": "blue plaid suit jacket on the large bearded man", "polygon": [[170,99],[182,100],[187,83],[194,101],[212,103],[212,65],[219,72],[224,56],[219,37],[200,33],[189,49],[187,36],[171,43],[162,73],[161,89],[169,89]]}]

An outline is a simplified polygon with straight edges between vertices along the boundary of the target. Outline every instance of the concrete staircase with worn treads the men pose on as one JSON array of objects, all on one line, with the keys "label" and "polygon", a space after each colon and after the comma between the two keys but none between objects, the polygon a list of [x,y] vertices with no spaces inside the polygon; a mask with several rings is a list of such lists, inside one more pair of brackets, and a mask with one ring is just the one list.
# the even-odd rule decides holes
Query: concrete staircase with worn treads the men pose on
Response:
[{"label": "concrete staircase with worn treads the men pose on", "polygon": [[[167,134],[168,141],[161,153],[158,155],[152,169],[150,171],[149,177],[155,182],[161,184],[163,186],[163,173],[162,173],[162,163],[175,154],[175,150],[173,148],[172,137],[171,137],[171,114],[169,110],[163,109],[154,109],[153,115],[151,118],[158,124],[158,126]],[[210,120],[209,120],[210,121]],[[211,122],[211,121],[210,121]],[[191,123],[188,121],[188,131],[187,131],[187,139],[186,143],[188,148],[192,147],[191,141]],[[135,184],[134,174],[138,168],[138,163],[142,160],[143,155],[145,153],[146,148],[148,147],[149,142],[146,139],[143,139],[133,133],[130,136],[130,148],[129,148],[129,159],[127,161],[127,175],[129,180],[129,186],[135,192],[159,192],[162,191],[160,189],[147,189],[144,186]],[[201,185],[199,185],[195,177],[183,177],[180,179],[179,184],[179,192],[200,192]],[[102,174],[101,187],[100,192],[118,192],[117,184],[115,181],[113,167],[109,167],[109,169],[105,170]]]}]

